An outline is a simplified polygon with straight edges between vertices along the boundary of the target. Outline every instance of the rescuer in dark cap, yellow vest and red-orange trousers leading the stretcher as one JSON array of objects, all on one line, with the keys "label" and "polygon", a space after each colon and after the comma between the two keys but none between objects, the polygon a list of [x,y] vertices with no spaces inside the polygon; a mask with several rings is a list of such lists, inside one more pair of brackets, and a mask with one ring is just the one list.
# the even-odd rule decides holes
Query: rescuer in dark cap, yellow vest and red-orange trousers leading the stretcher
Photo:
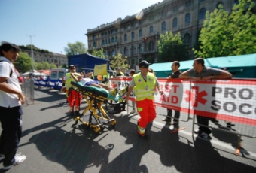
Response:
[{"label": "rescuer in dark cap, yellow vest and red-orange trousers leading the stretcher", "polygon": [[130,93],[134,88],[136,106],[140,115],[140,119],[138,120],[138,134],[142,137],[145,137],[145,129],[148,123],[152,122],[156,117],[154,87],[157,86],[159,92],[163,94],[163,91],[159,88],[157,78],[154,74],[148,73],[149,65],[151,64],[145,60],[139,62],[139,70],[141,72],[133,75],[126,97],[126,102],[128,102]]}]

